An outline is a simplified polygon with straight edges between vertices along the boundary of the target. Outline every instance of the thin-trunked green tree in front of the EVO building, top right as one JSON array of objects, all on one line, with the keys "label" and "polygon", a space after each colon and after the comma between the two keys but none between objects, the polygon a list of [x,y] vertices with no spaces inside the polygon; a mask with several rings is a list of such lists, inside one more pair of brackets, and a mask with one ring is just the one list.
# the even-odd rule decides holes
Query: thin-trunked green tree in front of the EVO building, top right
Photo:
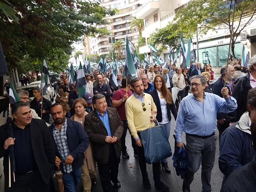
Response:
[{"label": "thin-trunked green tree in front of the EVO building, top right", "polygon": [[[255,0],[244,0],[236,6],[234,36],[231,43],[233,56],[235,56],[234,44],[238,36],[256,19],[255,7]],[[220,29],[228,29],[231,34],[233,8],[234,0],[193,0],[186,8],[178,11],[174,20],[179,25],[178,30],[182,31],[186,37],[192,36],[197,28],[202,34],[206,34],[208,30]]]}]

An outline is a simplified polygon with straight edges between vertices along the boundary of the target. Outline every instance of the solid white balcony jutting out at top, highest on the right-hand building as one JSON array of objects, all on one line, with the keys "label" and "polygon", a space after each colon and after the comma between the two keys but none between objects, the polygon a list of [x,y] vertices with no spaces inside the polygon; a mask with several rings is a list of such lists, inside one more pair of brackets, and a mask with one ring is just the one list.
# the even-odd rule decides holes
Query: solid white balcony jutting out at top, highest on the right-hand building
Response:
[{"label": "solid white balcony jutting out at top, highest on the right-hand building", "polygon": [[143,4],[141,8],[136,11],[137,19],[144,19],[156,10],[159,9],[159,1],[158,0],[149,0],[146,4]]}]

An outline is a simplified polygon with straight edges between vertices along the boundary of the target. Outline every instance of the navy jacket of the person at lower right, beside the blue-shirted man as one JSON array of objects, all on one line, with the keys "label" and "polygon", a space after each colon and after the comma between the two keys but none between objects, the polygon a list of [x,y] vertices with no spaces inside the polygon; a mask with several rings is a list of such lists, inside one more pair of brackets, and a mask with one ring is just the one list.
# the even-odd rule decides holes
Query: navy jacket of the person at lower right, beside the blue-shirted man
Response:
[{"label": "navy jacket of the person at lower right, beside the blue-shirted man", "polygon": [[220,171],[228,176],[250,162],[255,154],[251,135],[236,128],[238,122],[228,127],[220,138]]}]

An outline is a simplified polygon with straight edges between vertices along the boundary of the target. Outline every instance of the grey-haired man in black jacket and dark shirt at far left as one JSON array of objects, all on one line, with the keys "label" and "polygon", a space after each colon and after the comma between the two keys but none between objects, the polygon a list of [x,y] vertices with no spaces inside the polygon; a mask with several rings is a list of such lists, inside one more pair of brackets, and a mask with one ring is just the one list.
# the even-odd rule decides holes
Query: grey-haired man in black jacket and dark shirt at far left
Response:
[{"label": "grey-haired man in black jacket and dark shirt at far left", "polygon": [[[8,134],[8,126],[0,127],[0,158],[4,156],[5,191],[48,192],[55,161],[54,141],[44,120],[32,119],[30,106],[25,102],[12,105],[11,125],[13,138]],[[14,145],[15,177],[8,188],[8,148]],[[13,181],[13,177],[11,176]]]}]

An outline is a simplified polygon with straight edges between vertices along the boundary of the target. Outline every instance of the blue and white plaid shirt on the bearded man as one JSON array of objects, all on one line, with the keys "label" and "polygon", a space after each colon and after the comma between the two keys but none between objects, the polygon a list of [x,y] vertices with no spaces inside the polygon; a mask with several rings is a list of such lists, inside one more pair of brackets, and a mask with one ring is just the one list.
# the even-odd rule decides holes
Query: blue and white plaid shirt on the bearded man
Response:
[{"label": "blue and white plaid shirt on the bearded man", "polygon": [[53,137],[57,145],[57,149],[60,153],[61,160],[63,162],[62,165],[63,165],[64,172],[70,173],[72,172],[72,165],[65,164],[65,160],[69,155],[68,141],[66,137],[67,127],[68,127],[67,119],[65,120],[64,125],[61,127],[61,131],[59,131],[54,124]]}]

